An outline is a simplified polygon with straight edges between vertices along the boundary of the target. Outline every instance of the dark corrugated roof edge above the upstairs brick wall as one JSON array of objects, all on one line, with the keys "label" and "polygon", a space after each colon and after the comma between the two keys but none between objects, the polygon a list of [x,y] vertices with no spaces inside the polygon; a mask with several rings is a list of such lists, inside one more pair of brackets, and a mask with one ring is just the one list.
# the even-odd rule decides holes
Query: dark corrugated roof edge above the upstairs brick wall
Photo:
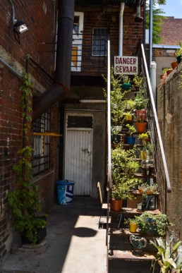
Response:
[{"label": "dark corrugated roof edge above the upstairs brick wall", "polygon": [[[121,2],[128,6],[135,6],[138,4],[138,0],[75,0],[75,5],[119,5]],[[143,5],[143,0],[140,0],[141,5]]]}]

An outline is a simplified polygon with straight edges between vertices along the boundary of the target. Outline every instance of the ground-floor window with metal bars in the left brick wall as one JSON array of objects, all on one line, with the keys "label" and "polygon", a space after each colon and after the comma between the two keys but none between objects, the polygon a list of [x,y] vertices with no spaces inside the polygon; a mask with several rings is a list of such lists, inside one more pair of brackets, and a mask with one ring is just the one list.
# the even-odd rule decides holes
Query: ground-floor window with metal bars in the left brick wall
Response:
[{"label": "ground-floor window with metal bars in the left brick wall", "polygon": [[50,132],[50,118],[49,111],[42,114],[40,119],[33,123],[33,143],[34,149],[32,157],[33,174],[40,174],[40,172],[49,169],[49,146],[50,136],[46,133]]}]

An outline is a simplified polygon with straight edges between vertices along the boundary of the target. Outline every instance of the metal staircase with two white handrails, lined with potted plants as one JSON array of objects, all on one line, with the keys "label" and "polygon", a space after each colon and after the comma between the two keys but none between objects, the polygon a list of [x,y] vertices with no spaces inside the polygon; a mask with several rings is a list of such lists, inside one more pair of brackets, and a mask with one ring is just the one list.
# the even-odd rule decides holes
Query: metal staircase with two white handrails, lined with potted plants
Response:
[{"label": "metal staircase with two white handrails, lined with potted plants", "polygon": [[[108,47],[109,51],[109,47]],[[150,83],[150,77],[147,70],[147,62],[145,59],[145,50],[143,45],[140,45],[140,72],[142,73],[142,77],[144,79],[143,85],[145,89],[145,97],[149,99],[147,103],[147,126],[150,131],[150,138],[152,145],[154,147],[154,174],[152,176],[144,176],[142,174],[135,174],[140,178],[154,179],[154,182],[159,186],[159,195],[157,196],[157,210],[150,210],[149,212],[152,214],[166,214],[166,193],[171,192],[171,185],[169,180],[169,173],[166,166],[166,158],[164,155],[164,148],[162,145],[162,137],[160,133],[159,123],[157,120],[157,111],[155,109],[154,98],[152,95],[152,87]],[[147,237],[147,246],[145,248],[144,255],[141,257],[137,257],[132,254],[132,247],[129,241],[129,236],[131,236],[131,232],[125,228],[125,226],[118,224],[119,217],[133,217],[134,215],[142,214],[142,212],[138,212],[135,207],[122,207],[121,211],[114,212],[111,210],[109,198],[112,189],[111,183],[111,113],[110,113],[110,61],[108,56],[108,82],[107,82],[107,90],[108,90],[108,168],[107,168],[107,248],[108,248],[108,260],[117,261],[121,260],[125,262],[150,262],[154,259],[154,248],[150,245],[150,236]],[[136,196],[140,196],[138,191],[134,193]],[[109,221],[110,220],[110,221]],[[135,235],[141,236],[140,233],[135,233]],[[139,265],[139,264],[137,264]],[[135,265],[133,265],[135,267]],[[147,270],[142,272],[150,272],[150,267],[147,267]],[[128,271],[127,271],[128,270]],[[133,271],[129,271],[127,269],[126,272],[136,272],[133,268]],[[110,272],[110,271],[109,271]],[[119,271],[118,271],[119,272]],[[121,268],[121,272],[123,271],[123,267]]]}]

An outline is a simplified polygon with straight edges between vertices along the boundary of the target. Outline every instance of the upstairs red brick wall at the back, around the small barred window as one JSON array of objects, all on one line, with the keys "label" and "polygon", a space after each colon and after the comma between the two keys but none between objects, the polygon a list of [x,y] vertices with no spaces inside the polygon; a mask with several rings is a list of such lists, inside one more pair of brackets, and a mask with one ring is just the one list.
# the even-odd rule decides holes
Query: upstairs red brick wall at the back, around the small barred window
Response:
[{"label": "upstairs red brick wall at the back, around the small barred window", "polygon": [[[88,44],[89,42],[85,40],[90,39],[90,51],[92,50],[92,29],[109,29],[111,63],[114,63],[114,55],[119,55],[119,8],[117,11],[115,8],[115,10],[107,10],[104,12],[96,8],[87,8],[84,10],[84,8],[75,7],[75,10],[84,12],[83,44]],[[123,12],[123,56],[135,56],[138,42],[140,39],[142,40],[143,37],[143,23],[136,23],[133,13],[135,13],[133,7],[125,6]],[[87,64],[92,70],[96,66],[95,61],[97,59],[98,57],[92,57]]]}]

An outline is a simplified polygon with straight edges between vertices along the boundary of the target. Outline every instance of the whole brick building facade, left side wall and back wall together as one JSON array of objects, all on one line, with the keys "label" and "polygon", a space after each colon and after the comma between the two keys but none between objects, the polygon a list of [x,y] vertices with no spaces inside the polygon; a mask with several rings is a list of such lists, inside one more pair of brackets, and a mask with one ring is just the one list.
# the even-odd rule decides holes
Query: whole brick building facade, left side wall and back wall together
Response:
[{"label": "whole brick building facade, left side wall and back wall together", "polygon": [[[111,39],[111,62],[114,55],[119,54],[119,4],[106,6],[78,6],[75,1],[75,11],[84,13],[83,37],[92,37],[93,28],[108,28]],[[116,1],[117,2],[117,1]],[[127,2],[127,1],[126,1]],[[131,1],[132,2],[132,1]],[[137,1],[133,1],[133,3]],[[15,17],[28,25],[28,31],[18,36],[11,31],[12,5],[11,1],[2,0],[0,15],[3,22],[0,26],[0,260],[11,250],[16,233],[11,224],[11,214],[8,208],[6,193],[16,188],[16,175],[12,171],[18,157],[17,151],[22,147],[23,119],[20,104],[20,76],[28,71],[30,80],[34,83],[33,95],[41,95],[54,82],[54,61],[56,41],[56,1],[16,1],[14,3]],[[127,5],[123,13],[123,55],[135,56],[138,42],[143,37],[143,23],[135,22],[135,5]],[[83,39],[85,39],[83,38]],[[90,44],[92,48],[92,42]],[[84,54],[84,47],[83,47]],[[30,55],[28,61],[26,56]],[[97,58],[97,57],[96,57]],[[90,64],[95,66],[95,57],[89,56]],[[93,69],[94,70],[94,69]],[[104,67],[107,73],[107,65]],[[95,71],[90,79],[90,71],[80,71],[71,75],[71,92],[59,102],[51,106],[51,128],[54,133],[66,132],[66,114],[83,114],[93,117],[92,140],[92,185],[90,196],[97,196],[95,183],[105,183],[105,118],[106,104],[82,103],[80,99],[104,99],[102,73]],[[60,112],[61,111],[61,112]],[[61,113],[61,114],[60,114]],[[61,116],[61,118],[60,118]],[[64,128],[63,128],[64,127]],[[18,140],[18,141],[17,141]],[[64,142],[63,142],[64,140]],[[33,182],[40,186],[42,209],[48,211],[56,200],[56,180],[64,178],[64,147],[66,138],[50,137],[49,168],[37,174]],[[61,149],[61,150],[60,150]],[[61,156],[60,156],[61,154]],[[98,164],[99,162],[99,164]],[[61,174],[59,175],[59,173]]]}]

